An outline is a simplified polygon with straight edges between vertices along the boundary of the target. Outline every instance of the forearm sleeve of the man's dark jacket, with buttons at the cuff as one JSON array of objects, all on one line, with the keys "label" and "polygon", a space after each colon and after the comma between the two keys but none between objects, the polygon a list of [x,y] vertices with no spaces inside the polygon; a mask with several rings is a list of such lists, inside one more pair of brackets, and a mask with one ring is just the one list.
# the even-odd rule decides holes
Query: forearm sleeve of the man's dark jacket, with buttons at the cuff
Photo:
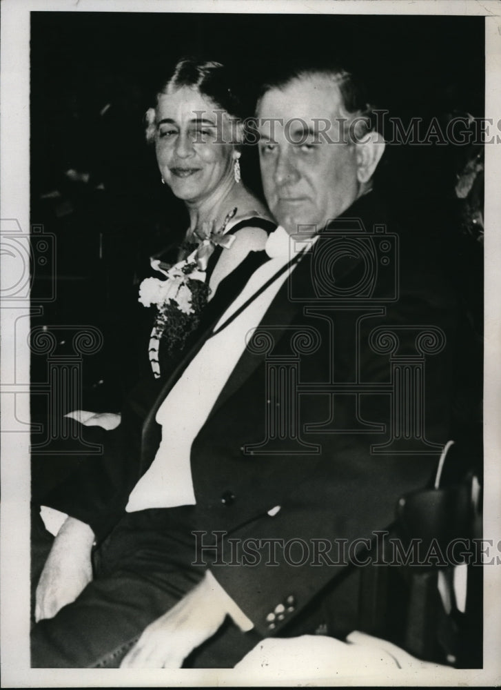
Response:
[{"label": "forearm sleeve of the man's dark jacket, with buttons at the cuff", "polygon": [[399,498],[426,484],[436,465],[429,458],[412,467],[401,458],[371,461],[350,446],[331,460],[335,477],[326,457],[281,499],[278,513],[229,533],[209,564],[261,635],[280,633],[324,587],[364,565],[369,540],[389,528]]}]

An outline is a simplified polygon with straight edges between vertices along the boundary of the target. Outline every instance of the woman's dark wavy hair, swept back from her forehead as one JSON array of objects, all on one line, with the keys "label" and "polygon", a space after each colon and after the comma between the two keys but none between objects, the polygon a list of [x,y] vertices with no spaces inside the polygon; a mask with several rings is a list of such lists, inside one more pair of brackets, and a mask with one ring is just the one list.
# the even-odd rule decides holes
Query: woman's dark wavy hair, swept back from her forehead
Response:
[{"label": "woman's dark wavy hair, swept back from her forehead", "polygon": [[[188,86],[196,89],[221,110],[226,110],[230,117],[245,119],[248,113],[243,112],[244,106],[237,95],[235,81],[232,72],[220,62],[198,57],[182,57],[164,77],[156,93],[156,103],[162,95],[174,93],[183,86]],[[147,111],[145,119],[146,140],[152,142],[156,131],[154,108]]]}]

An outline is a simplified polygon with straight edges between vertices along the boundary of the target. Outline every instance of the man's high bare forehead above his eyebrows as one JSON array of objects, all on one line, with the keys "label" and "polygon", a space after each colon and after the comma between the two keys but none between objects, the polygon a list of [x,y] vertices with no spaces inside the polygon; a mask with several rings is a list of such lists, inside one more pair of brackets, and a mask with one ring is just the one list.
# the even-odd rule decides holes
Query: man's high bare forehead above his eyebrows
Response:
[{"label": "man's high bare forehead above his eyebrows", "polygon": [[342,96],[334,79],[311,75],[294,79],[283,88],[272,88],[261,97],[260,119],[298,117],[305,121],[342,116]]}]

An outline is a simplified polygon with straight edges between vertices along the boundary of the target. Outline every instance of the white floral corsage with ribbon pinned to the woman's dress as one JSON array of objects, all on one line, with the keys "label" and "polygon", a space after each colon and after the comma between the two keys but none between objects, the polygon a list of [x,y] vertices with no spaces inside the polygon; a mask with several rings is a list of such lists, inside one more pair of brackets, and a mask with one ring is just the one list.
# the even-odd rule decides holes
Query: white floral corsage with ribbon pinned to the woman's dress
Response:
[{"label": "white floral corsage with ribbon pinned to the woman's dress", "polygon": [[[148,354],[155,378],[160,377],[159,348],[160,340],[169,355],[183,349],[186,339],[200,322],[201,312],[207,304],[209,286],[206,283],[208,257],[216,246],[229,248],[235,237],[225,237],[224,230],[229,219],[236,213],[236,208],[227,215],[219,230],[204,231],[194,234],[198,241],[197,248],[182,261],[170,266],[158,259],[151,259],[152,268],[159,270],[165,279],[145,278],[139,286],[139,302],[146,307],[156,306]],[[193,242],[193,239],[191,240]]]}]

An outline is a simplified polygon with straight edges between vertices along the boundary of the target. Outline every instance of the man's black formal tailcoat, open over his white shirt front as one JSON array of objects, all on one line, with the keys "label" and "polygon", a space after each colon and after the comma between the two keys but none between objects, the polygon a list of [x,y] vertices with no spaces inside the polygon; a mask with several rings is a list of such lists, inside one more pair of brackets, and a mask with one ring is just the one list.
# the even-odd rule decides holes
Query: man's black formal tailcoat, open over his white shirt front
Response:
[{"label": "man's black formal tailcoat, open over his white shirt front", "polygon": [[[371,193],[327,226],[278,291],[262,337],[192,444],[200,562],[262,635],[280,633],[342,578],[342,544],[354,549],[391,524],[398,499],[432,481],[450,437],[456,299],[431,247],[404,233],[393,239],[386,224]],[[430,328],[428,347],[419,333]],[[154,458],[156,411],[209,333],[207,324],[151,406],[152,391],[130,400],[105,455],[86,460],[50,506],[90,524],[98,539],[110,533]],[[392,392],[404,370],[417,386],[424,377],[404,408],[422,420],[425,442],[406,427],[413,443],[375,448],[407,433],[396,428],[405,402]]]}]

